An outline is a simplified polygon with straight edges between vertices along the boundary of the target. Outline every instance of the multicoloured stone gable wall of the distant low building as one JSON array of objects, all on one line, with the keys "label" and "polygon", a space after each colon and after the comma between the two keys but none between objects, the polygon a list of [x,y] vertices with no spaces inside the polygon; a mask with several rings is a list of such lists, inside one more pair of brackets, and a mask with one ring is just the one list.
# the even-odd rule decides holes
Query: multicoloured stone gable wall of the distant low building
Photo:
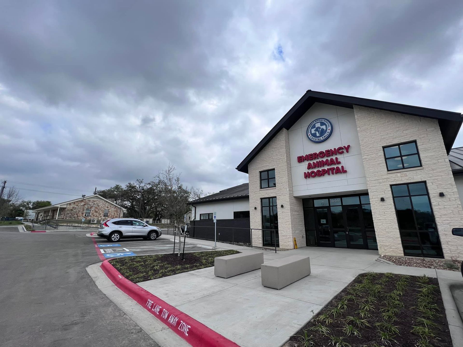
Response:
[{"label": "multicoloured stone gable wall of the distant low building", "polygon": [[[60,211],[60,218],[63,219],[82,219],[85,215],[85,209],[90,209],[90,217],[96,219],[109,219],[109,218],[122,218],[124,211],[105,200],[97,198],[81,199],[67,204],[63,208],[63,212]],[[103,217],[104,210],[109,210],[108,217]]]}]

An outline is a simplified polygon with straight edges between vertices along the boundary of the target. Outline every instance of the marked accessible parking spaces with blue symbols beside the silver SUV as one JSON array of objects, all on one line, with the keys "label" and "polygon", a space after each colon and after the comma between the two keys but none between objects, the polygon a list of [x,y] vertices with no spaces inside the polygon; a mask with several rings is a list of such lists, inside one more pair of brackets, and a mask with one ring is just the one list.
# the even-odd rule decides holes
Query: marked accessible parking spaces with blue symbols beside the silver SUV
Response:
[{"label": "marked accessible parking spaces with blue symbols beside the silver SUV", "polygon": [[[109,242],[101,237],[94,238],[97,252],[100,252],[106,259],[130,257],[132,255],[148,255],[172,253],[174,241],[168,238],[158,237],[154,241],[142,239],[122,239],[118,242]],[[183,237],[181,238],[181,251],[183,250]],[[185,242],[185,252],[205,251],[206,248],[199,247],[195,243]],[[175,252],[178,251],[178,238],[175,242]]]}]

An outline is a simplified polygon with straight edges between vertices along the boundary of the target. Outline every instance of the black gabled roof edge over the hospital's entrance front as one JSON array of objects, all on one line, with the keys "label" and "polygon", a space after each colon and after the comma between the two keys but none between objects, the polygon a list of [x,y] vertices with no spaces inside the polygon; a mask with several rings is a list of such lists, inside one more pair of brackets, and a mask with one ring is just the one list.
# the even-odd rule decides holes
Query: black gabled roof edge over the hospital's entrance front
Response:
[{"label": "black gabled roof edge over the hospital's entrance front", "polygon": [[257,144],[257,146],[244,158],[244,160],[239,163],[236,168],[238,171],[248,173],[248,164],[254,157],[263,149],[270,140],[280,132],[283,128],[289,129],[294,123],[302,117],[307,110],[312,107],[316,102],[336,105],[346,108],[353,108],[354,105],[365,106],[370,108],[376,108],[379,110],[386,110],[391,112],[398,112],[404,114],[410,114],[413,116],[426,117],[438,119],[439,127],[442,132],[442,137],[444,138],[445,149],[447,153],[450,152],[453,142],[457,137],[458,130],[462,125],[461,113],[434,110],[432,108],[411,106],[411,105],[402,105],[396,104],[394,102],[386,102],[372,99],[363,99],[356,98],[353,96],[339,95],[332,93],[322,93],[315,92],[313,90],[308,90],[302,98],[299,99],[296,104],[291,107],[291,109],[284,115],[282,119],[269,131],[267,135]]}]

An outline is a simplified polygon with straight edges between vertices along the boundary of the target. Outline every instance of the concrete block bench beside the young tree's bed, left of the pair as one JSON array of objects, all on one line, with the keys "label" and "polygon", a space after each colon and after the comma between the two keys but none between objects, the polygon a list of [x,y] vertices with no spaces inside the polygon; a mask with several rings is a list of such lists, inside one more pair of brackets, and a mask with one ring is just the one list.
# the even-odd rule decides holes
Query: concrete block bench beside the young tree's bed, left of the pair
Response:
[{"label": "concrete block bench beside the young tree's bed, left of the pair", "polygon": [[214,260],[214,275],[225,279],[260,269],[263,252],[246,252],[217,257]]}]

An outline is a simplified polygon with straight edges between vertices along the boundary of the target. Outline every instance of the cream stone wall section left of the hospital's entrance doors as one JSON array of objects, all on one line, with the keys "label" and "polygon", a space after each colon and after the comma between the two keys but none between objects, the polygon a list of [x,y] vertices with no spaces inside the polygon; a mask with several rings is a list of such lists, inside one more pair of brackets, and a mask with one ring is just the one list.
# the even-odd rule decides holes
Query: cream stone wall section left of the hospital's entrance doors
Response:
[{"label": "cream stone wall section left of the hospital's entrance doors", "polygon": [[[276,186],[260,189],[259,172],[273,168]],[[251,228],[262,229],[261,198],[276,197],[280,248],[294,248],[293,237],[296,238],[298,246],[305,246],[302,199],[293,197],[288,130],[282,129],[256,155],[248,165],[248,172]],[[253,230],[252,244],[262,245],[261,230]]]}]

